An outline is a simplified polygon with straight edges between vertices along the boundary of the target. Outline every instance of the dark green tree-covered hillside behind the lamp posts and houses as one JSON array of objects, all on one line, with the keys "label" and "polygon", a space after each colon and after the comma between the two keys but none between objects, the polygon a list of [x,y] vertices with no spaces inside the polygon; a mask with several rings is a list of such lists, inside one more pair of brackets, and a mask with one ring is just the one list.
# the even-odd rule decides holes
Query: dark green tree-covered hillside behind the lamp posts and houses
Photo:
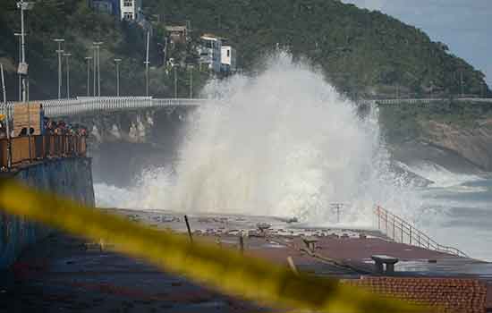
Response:
[{"label": "dark green tree-covered hillside behind the lamp posts and houses", "polygon": [[[194,41],[175,47],[186,62],[192,57],[199,35],[211,32],[227,38],[238,50],[238,66],[261,70],[262,56],[276,47],[321,68],[341,91],[352,97],[424,97],[430,94],[487,95],[482,72],[432,42],[421,30],[383,13],[361,10],[338,0],[144,0],[144,11],[155,29],[152,38],[151,93],[169,97],[174,92],[174,73],[162,65],[165,25],[189,21]],[[17,58],[19,15],[15,1],[0,4],[0,60],[13,70]],[[93,40],[104,41],[101,53],[103,94],[115,93],[113,59],[122,57],[123,94],[143,94],[143,32],[138,26],[93,13],[81,0],[43,0],[28,14],[31,97],[55,97],[56,56],[52,38],[64,37],[72,57],[72,90],[84,95],[86,65]],[[169,56],[168,55],[168,56]],[[177,70],[179,95],[188,95],[189,73]],[[199,88],[207,72],[194,75]],[[196,81],[195,81],[196,80]],[[9,93],[15,95],[15,75],[9,76]],[[11,96],[12,97],[12,96]]]}]

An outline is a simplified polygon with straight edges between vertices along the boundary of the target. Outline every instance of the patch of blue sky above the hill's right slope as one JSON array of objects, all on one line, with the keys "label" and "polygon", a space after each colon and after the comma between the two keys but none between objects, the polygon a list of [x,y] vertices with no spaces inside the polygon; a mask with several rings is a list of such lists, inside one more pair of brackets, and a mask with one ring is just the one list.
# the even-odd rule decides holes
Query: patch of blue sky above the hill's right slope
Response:
[{"label": "patch of blue sky above the hill's right slope", "polygon": [[492,0],[342,0],[392,15],[444,42],[492,86]]}]

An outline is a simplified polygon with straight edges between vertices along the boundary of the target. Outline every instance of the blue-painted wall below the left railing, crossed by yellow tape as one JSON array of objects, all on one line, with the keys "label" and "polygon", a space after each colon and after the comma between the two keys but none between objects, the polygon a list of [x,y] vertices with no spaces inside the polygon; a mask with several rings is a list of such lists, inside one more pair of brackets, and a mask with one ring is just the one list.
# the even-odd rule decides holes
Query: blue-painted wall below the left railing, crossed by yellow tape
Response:
[{"label": "blue-painted wall below the left railing, crossed by yellow tape", "polygon": [[[38,190],[48,190],[94,205],[91,160],[65,158],[22,168],[13,176]],[[7,268],[27,246],[45,237],[47,228],[0,213],[0,269]]]}]

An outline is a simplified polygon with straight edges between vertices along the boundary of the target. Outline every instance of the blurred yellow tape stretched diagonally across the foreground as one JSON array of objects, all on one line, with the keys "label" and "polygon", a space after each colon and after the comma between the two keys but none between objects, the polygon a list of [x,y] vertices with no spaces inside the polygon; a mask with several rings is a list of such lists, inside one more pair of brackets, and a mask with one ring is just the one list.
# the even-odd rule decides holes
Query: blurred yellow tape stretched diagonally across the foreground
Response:
[{"label": "blurred yellow tape stretched diagonally across the foreground", "polygon": [[0,207],[89,240],[113,242],[115,250],[262,305],[334,313],[422,311],[422,307],[381,298],[335,279],[295,275],[287,266],[244,257],[235,250],[201,241],[191,243],[184,235],[158,231],[17,182],[0,181]]}]

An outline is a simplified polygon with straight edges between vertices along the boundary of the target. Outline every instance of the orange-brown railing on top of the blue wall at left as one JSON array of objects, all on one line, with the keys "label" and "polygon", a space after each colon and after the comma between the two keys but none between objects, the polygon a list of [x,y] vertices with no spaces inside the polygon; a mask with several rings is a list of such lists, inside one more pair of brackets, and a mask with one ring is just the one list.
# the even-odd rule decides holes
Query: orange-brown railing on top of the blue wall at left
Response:
[{"label": "orange-brown railing on top of the blue wall at left", "polygon": [[[86,138],[77,135],[41,135],[0,140],[0,166],[13,167],[52,157],[85,157]],[[9,156],[10,154],[10,156]]]}]

